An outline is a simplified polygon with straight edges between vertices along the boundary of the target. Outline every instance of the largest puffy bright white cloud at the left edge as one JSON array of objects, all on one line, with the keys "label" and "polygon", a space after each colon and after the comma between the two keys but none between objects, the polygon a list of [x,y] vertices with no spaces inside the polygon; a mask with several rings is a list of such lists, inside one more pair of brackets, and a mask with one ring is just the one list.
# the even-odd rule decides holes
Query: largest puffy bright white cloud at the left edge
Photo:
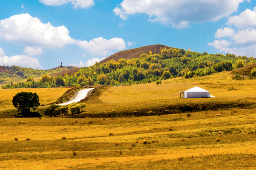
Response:
[{"label": "largest puffy bright white cloud at the left edge", "polygon": [[54,48],[63,47],[76,41],[69,36],[65,26],[43,24],[37,17],[29,14],[14,15],[0,20],[0,37],[29,47]]}]

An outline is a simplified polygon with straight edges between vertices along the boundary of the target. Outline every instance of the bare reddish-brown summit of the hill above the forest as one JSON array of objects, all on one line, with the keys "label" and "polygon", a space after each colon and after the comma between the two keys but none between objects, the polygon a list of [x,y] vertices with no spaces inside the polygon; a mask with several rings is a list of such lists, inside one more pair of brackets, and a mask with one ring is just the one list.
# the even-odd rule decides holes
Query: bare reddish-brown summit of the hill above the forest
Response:
[{"label": "bare reddish-brown summit of the hill above the forest", "polygon": [[[118,60],[118,59],[133,59],[133,58],[138,58],[141,54],[146,53],[148,54],[149,51],[154,51],[156,50],[156,53],[160,53],[160,48],[164,49],[170,49],[172,47],[168,47],[166,45],[161,45],[161,44],[156,44],[156,45],[148,45],[140,48],[135,48],[131,50],[124,50],[124,51],[119,51],[104,60],[100,61],[100,63],[105,63],[111,59]],[[174,48],[173,48],[174,49]]]}]

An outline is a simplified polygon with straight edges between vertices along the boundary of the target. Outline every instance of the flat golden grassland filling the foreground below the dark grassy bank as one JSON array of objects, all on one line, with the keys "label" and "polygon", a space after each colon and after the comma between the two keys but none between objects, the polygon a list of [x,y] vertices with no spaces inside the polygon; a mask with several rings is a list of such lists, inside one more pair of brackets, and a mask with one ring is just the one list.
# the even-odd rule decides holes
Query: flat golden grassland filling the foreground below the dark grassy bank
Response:
[{"label": "flat golden grassland filling the foreground below the dark grassy bank", "polygon": [[187,114],[0,119],[0,170],[255,168],[256,109]]}]

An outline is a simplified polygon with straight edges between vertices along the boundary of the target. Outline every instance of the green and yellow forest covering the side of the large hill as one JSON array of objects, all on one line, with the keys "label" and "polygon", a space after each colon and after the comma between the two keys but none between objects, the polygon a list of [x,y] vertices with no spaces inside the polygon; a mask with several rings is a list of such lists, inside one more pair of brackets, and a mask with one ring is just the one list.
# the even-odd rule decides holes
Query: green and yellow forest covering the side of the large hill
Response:
[{"label": "green and yellow forest covering the side of the large hill", "polygon": [[[134,59],[114,59],[94,66],[81,68],[71,75],[50,77],[45,74],[35,82],[28,77],[27,82],[7,84],[2,88],[41,88],[76,85],[132,85],[150,83],[182,76],[190,78],[206,76],[221,71],[230,71],[252,62],[253,57],[234,54],[208,54],[186,51],[184,49],[161,49],[161,52],[149,51]],[[256,76],[253,72],[253,75]]]}]

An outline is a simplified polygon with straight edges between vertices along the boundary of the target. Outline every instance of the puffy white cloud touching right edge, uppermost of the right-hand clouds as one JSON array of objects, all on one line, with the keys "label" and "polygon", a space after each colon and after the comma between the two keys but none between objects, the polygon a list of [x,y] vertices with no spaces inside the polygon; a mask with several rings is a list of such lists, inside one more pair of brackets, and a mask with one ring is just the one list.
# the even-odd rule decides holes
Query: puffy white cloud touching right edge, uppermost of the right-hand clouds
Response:
[{"label": "puffy white cloud touching right edge, uppermost of the right-hand clouds", "polygon": [[227,24],[234,25],[239,29],[256,28],[256,7],[253,10],[246,9],[238,16],[229,17]]}]

